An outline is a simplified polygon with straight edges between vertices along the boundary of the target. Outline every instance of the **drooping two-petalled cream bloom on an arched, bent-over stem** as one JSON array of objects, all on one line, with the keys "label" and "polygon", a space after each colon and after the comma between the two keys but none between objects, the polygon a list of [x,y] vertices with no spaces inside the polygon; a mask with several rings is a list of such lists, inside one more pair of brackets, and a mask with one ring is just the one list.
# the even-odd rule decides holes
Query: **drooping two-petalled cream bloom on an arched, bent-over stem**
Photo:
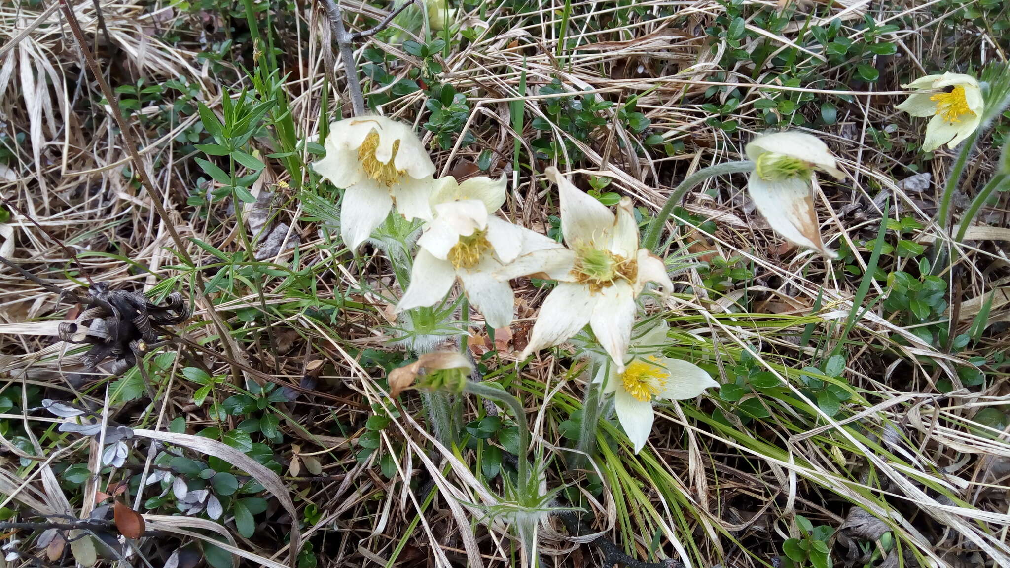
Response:
[{"label": "drooping two-petalled cream bloom on an arched, bent-over stem", "polygon": [[821,241],[813,200],[815,170],[845,179],[827,145],[803,132],[773,132],[750,140],[745,152],[754,163],[747,191],[772,228],[797,245],[837,258]]}]

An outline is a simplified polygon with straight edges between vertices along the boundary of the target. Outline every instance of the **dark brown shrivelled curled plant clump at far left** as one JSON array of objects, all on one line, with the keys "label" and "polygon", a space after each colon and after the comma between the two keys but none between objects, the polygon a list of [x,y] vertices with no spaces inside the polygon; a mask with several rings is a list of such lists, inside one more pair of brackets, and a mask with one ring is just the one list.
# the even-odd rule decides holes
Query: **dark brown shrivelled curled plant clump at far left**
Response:
[{"label": "dark brown shrivelled curled plant clump at far left", "polygon": [[[136,363],[137,342],[155,342],[160,336],[152,325],[176,325],[189,317],[183,295],[173,292],[168,303],[158,305],[139,292],[112,290],[108,283],[97,282],[88,288],[92,307],[84,310],[75,322],[60,324],[60,339],[73,344],[93,344],[81,361],[94,369],[107,357],[116,360],[113,373],[119,373]],[[81,326],[83,340],[74,336]]]}]

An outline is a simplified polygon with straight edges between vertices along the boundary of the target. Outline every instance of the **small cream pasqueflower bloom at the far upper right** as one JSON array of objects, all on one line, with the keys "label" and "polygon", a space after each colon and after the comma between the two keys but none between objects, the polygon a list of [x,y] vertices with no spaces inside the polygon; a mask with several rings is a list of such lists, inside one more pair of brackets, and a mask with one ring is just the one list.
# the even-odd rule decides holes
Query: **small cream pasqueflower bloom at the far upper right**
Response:
[{"label": "small cream pasqueflower bloom at the far upper right", "polygon": [[932,116],[926,124],[922,150],[932,152],[947,145],[954,148],[982,123],[984,101],[979,81],[971,75],[944,73],[916,79],[906,89],[942,89],[942,93],[914,93],[897,106],[912,116]]}]

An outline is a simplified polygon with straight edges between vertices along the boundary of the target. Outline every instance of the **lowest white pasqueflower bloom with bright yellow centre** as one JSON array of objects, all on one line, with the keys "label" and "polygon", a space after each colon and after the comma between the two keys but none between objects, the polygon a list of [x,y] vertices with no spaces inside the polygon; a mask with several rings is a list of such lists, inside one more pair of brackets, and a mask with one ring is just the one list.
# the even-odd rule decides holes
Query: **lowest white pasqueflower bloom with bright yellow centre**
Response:
[{"label": "lowest white pasqueflower bloom with bright yellow centre", "polygon": [[614,394],[614,410],[637,454],[652,432],[653,400],[686,400],[719,386],[697,365],[663,356],[667,322],[662,321],[631,342],[623,371],[602,365],[595,382]]}]

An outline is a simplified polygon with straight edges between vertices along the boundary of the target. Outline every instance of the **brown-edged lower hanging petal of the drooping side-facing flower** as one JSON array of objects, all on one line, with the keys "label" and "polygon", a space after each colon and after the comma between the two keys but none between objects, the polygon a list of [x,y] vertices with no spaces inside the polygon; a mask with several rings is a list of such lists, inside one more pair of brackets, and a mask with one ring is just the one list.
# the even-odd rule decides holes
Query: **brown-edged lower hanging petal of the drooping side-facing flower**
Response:
[{"label": "brown-edged lower hanging petal of the drooping side-facing flower", "polygon": [[821,241],[813,192],[806,181],[793,178],[772,183],[751,172],[747,190],[758,210],[776,232],[797,245],[820,251],[828,258],[837,258]]}]

